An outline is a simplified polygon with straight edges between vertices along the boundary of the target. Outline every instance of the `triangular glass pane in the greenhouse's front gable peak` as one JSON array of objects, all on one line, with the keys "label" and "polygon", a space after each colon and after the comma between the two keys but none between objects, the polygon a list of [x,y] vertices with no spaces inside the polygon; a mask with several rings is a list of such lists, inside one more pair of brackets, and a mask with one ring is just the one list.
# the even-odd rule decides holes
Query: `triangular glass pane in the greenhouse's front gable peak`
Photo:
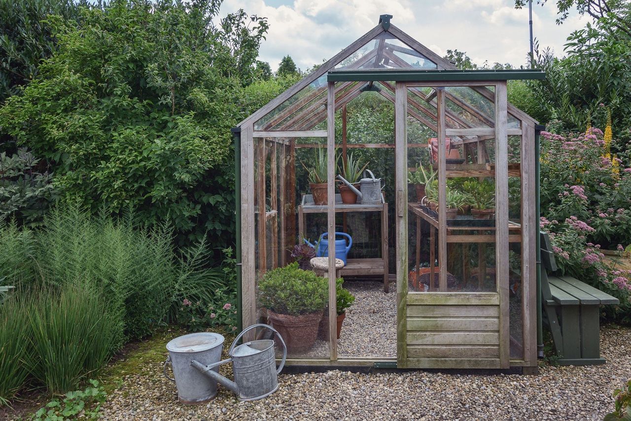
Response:
[{"label": "triangular glass pane in the greenhouse's front gable peak", "polygon": [[410,45],[389,33],[381,33],[335,66],[336,69],[437,69]]}]

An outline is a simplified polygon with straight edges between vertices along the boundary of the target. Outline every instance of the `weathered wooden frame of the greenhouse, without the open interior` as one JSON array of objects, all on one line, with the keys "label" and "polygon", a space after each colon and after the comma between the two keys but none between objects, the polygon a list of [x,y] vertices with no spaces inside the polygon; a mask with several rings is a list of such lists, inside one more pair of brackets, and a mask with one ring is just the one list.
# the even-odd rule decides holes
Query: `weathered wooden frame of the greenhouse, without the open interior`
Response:
[{"label": "weathered wooden frame of the greenhouse, without the open interior", "polygon": [[[335,120],[336,110],[340,110],[343,156],[353,148],[394,150],[396,185],[394,203],[389,204],[389,211],[394,213],[396,221],[392,235],[396,258],[389,264],[388,204],[384,203],[380,208],[377,206],[382,212],[382,230],[386,229],[386,234],[382,234],[382,261],[372,259],[357,264],[358,267],[366,265],[366,274],[383,275],[386,290],[392,275],[389,272],[396,274],[397,355],[396,359],[339,357],[335,337],[335,253],[334,244],[331,244],[328,259],[329,355],[326,358],[290,358],[288,364],[420,369],[524,367],[524,372],[536,372],[535,145],[539,127],[532,117],[507,102],[507,80],[540,79],[544,74],[537,70],[459,71],[451,62],[391,25],[390,18],[382,15],[379,25],[233,129],[240,196],[237,201],[237,236],[240,239],[237,258],[240,258],[242,326],[260,321],[256,304],[257,273],[260,275],[288,263],[286,250],[297,244],[298,234],[301,234],[297,232],[298,225],[300,230],[304,229],[304,222],[298,224],[303,216],[302,208],[298,209],[300,201],[296,194],[298,149],[326,146],[329,205],[314,211],[326,213],[329,235],[333,236],[336,230],[336,212],[345,211],[343,206],[336,204],[334,186]],[[411,60],[415,62],[410,63]],[[481,110],[457,95],[459,88],[485,101],[488,109]],[[348,142],[346,105],[367,91],[378,92],[380,97],[394,104],[394,143]],[[419,210],[418,205],[408,201],[408,150],[427,147],[427,143],[408,141],[409,119],[415,119],[437,134],[437,161],[434,165],[439,187],[435,216],[428,216],[425,210]],[[517,137],[518,163],[509,163],[509,136],[521,136]],[[317,143],[317,138],[326,139],[326,144]],[[447,164],[447,139],[461,148],[464,157],[473,163]],[[492,150],[487,150],[487,141],[492,141]],[[260,165],[265,162],[270,163],[271,174],[266,174],[266,165]],[[463,228],[448,225],[445,195],[449,177],[494,178],[494,225],[470,230],[467,235],[463,234]],[[509,177],[521,180],[519,223],[509,221]],[[273,182],[266,182],[268,178]],[[409,236],[408,216],[416,218],[416,239]],[[417,275],[420,272],[421,223],[427,223],[431,233],[432,281],[429,282],[428,292],[410,290],[408,283],[411,264],[415,264],[413,268]],[[273,244],[266,244],[266,241]],[[416,256],[408,252],[413,242],[416,244]],[[469,250],[469,244],[482,243],[491,244],[495,249],[492,257],[497,281],[492,289],[476,292],[450,290],[447,265],[452,254],[448,255],[448,248],[461,247],[464,254],[465,249]],[[509,244],[519,244],[521,250],[521,266],[516,271],[517,275],[509,274]],[[266,250],[270,247],[280,252],[269,256]],[[477,277],[480,284],[482,279],[486,282],[487,271],[485,269],[482,273],[481,267],[486,261],[486,250],[486,246],[478,246],[480,266]],[[436,257],[438,264],[434,267]],[[469,261],[468,258],[466,260]],[[463,273],[466,270],[464,267],[463,263]],[[357,270],[352,274],[361,273],[362,270]],[[521,279],[517,287],[521,294],[521,338],[517,356],[509,355],[512,349],[509,332],[510,276]],[[434,279],[438,280],[437,285]]]}]

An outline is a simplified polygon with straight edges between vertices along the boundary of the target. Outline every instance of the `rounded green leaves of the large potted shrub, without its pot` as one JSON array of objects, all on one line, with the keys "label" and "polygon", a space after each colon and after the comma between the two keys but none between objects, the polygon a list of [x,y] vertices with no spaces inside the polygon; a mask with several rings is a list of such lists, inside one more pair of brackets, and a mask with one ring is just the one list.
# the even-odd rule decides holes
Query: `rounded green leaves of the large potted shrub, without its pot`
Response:
[{"label": "rounded green leaves of the large potted shrub, without its pot", "polygon": [[259,281],[259,305],[278,314],[297,316],[322,311],[327,303],[328,281],[290,263],[267,271]]}]

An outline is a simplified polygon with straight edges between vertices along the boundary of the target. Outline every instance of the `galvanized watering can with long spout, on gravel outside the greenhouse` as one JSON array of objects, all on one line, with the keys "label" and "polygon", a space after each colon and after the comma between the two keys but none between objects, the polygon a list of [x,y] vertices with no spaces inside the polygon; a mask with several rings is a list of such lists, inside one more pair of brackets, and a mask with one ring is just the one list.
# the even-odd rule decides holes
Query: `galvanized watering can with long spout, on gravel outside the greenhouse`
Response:
[{"label": "galvanized watering can with long spout, on gravel outside the greenhouse", "polygon": [[[273,331],[280,343],[283,344],[283,359],[278,369],[276,369],[276,356],[274,355],[274,340],[261,339],[237,345],[239,339],[251,329],[268,328]],[[244,329],[233,341],[228,351],[230,358],[223,361],[213,362],[205,365],[197,360],[191,360],[191,367],[196,369],[197,374],[203,374],[214,382],[220,382],[239,396],[240,401],[254,401],[265,398],[278,389],[278,373],[281,372],[287,358],[287,347],[282,336],[276,329],[267,324],[252,324]],[[232,372],[234,381],[221,376],[218,367],[221,364],[232,362]]]}]

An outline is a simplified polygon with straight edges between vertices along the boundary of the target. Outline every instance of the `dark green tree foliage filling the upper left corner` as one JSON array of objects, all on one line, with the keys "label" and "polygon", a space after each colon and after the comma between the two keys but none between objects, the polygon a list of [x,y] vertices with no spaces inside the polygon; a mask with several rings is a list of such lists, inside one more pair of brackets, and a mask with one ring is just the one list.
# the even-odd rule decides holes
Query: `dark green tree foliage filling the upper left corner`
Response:
[{"label": "dark green tree foliage filling the upper left corner", "polygon": [[48,15],[76,20],[85,0],[0,0],[0,104],[38,74],[56,48]]}]

